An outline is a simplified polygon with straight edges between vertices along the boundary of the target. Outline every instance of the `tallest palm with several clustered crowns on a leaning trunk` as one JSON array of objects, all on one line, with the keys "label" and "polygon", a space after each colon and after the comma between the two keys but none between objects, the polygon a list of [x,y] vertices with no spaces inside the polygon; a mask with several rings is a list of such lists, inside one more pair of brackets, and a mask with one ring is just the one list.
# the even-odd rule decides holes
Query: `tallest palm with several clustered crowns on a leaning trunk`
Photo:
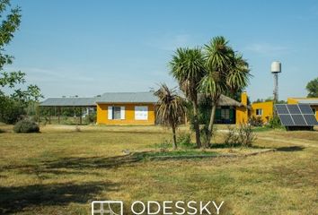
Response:
[{"label": "tallest palm with several clustered crowns on a leaning trunk", "polygon": [[224,37],[216,37],[208,45],[205,45],[204,56],[207,73],[201,81],[200,89],[212,99],[206,142],[209,145],[216,116],[216,106],[221,94],[245,88],[251,74],[243,56],[235,54]]}]

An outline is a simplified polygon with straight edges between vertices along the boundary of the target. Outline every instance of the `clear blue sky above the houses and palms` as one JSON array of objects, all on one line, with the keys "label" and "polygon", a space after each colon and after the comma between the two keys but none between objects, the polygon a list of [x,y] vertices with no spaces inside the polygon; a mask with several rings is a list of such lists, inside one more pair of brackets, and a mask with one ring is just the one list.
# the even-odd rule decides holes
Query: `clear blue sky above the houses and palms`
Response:
[{"label": "clear blue sky above the houses and palms", "polygon": [[279,99],[303,97],[318,76],[318,1],[22,1],[20,30],[6,70],[27,73],[45,97],[94,96],[175,86],[168,62],[177,47],[223,35],[243,53],[251,99],[272,96],[270,63],[279,60]]}]

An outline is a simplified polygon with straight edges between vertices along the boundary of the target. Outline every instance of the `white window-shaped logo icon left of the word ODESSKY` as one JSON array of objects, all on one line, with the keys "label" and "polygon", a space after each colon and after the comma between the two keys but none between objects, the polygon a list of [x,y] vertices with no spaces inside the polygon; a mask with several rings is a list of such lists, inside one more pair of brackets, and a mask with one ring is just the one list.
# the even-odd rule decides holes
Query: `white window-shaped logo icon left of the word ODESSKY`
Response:
[{"label": "white window-shaped logo icon left of the word ODESSKY", "polygon": [[123,202],[121,201],[93,201],[92,215],[123,215]]}]

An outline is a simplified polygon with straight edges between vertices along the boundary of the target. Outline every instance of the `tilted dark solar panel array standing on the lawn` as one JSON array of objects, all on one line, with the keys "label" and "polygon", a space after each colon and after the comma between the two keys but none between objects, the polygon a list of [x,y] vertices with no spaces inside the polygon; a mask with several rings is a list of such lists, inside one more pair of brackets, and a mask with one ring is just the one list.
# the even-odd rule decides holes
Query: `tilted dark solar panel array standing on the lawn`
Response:
[{"label": "tilted dark solar panel array standing on the lawn", "polygon": [[314,126],[318,125],[314,112],[309,105],[275,105],[278,117],[285,126]]}]

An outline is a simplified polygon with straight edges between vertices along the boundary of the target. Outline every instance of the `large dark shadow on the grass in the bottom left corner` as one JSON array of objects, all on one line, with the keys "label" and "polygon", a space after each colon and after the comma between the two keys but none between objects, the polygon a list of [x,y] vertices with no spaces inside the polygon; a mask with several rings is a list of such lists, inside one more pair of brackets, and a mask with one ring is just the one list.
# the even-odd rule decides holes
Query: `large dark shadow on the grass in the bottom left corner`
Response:
[{"label": "large dark shadow on the grass in the bottom left corner", "polygon": [[87,203],[89,207],[94,196],[105,191],[116,191],[114,186],[105,182],[0,186],[0,214],[12,214],[35,206],[67,205],[71,202]]}]

